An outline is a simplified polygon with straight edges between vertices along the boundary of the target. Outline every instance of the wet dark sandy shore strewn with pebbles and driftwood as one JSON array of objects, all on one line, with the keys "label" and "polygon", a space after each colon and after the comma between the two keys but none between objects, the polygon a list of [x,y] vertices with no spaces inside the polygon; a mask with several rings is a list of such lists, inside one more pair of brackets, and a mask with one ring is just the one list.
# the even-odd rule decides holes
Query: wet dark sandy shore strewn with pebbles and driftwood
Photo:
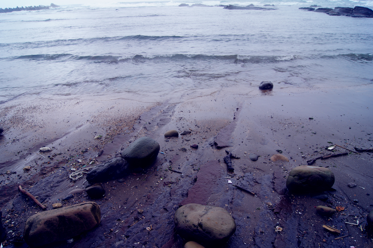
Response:
[{"label": "wet dark sandy shore strewn with pebbles and driftwood", "polygon": [[[357,219],[362,223],[373,209],[372,196],[367,195],[373,192],[371,155],[350,153],[317,160],[314,165],[329,167],[336,178],[336,191],[327,192],[326,203],[309,196],[283,195],[290,170],[326,154],[323,148],[328,142],[350,150],[372,147],[371,87],[301,89],[297,93],[258,91],[256,97],[232,93],[235,90],[238,89],[181,103],[43,99],[3,104],[0,204],[3,225],[7,232],[12,230],[7,234],[6,245],[22,241],[25,220],[35,211],[42,211],[18,192],[18,185],[43,200],[49,210],[72,189],[87,184],[83,183],[84,178],[70,181],[72,167],[95,166],[141,136],[156,139],[164,154],[159,154],[154,166],[144,174],[130,175],[124,182],[104,183],[106,197],[96,201],[103,216],[100,227],[75,238],[71,244],[61,242],[56,246],[182,247],[182,240],[173,231],[173,213],[188,198],[224,207],[232,214],[237,230],[223,247],[372,245],[367,229],[361,232],[356,226],[344,224],[345,220]],[[164,138],[164,132],[171,129],[179,133],[189,130],[191,134]],[[93,139],[97,135],[103,138]],[[219,136],[228,147],[216,148]],[[191,144],[198,144],[199,148],[193,150]],[[36,154],[44,145],[54,147],[42,154],[45,158]],[[179,150],[183,147],[186,152]],[[96,162],[95,156],[102,149],[104,153]],[[223,162],[225,150],[241,157],[232,160],[234,173],[227,172]],[[276,150],[282,150],[289,162],[270,161],[278,153]],[[345,151],[340,147],[336,150]],[[260,155],[258,161],[251,161],[250,153]],[[25,166],[31,169],[24,172]],[[10,174],[6,173],[8,170]],[[229,185],[227,178],[256,192],[257,197]],[[357,186],[349,188],[349,182]],[[200,190],[192,196],[188,191],[195,185]],[[355,199],[358,203],[353,202]],[[63,205],[89,200],[84,192]],[[343,206],[345,211],[329,219],[316,215],[317,205]],[[142,215],[137,213],[140,208],[144,210]],[[139,222],[128,227],[135,216]],[[150,225],[154,230],[147,232],[145,227]],[[274,232],[277,225],[283,232]],[[337,236],[322,225],[338,226],[343,229],[340,236],[350,236],[334,240]]]}]

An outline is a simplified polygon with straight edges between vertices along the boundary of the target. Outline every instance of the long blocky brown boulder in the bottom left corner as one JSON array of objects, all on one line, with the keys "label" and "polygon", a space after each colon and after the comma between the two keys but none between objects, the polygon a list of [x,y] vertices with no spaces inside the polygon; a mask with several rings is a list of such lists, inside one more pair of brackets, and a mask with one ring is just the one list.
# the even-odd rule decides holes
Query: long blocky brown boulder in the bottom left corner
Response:
[{"label": "long blocky brown boulder in the bottom left corner", "polygon": [[48,210],[27,219],[23,238],[30,247],[42,246],[77,236],[100,220],[100,207],[91,201]]}]

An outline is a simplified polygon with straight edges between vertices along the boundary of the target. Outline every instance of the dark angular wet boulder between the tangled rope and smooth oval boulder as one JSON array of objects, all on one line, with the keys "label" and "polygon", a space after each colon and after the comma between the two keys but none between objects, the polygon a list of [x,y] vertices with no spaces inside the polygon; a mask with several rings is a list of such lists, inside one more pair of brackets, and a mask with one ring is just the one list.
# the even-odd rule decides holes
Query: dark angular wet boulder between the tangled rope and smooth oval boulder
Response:
[{"label": "dark angular wet boulder between the tangled rope and smooth oval boulder", "polygon": [[121,157],[113,158],[106,163],[94,167],[87,173],[85,179],[89,183],[107,182],[123,178],[129,173],[128,163]]}]

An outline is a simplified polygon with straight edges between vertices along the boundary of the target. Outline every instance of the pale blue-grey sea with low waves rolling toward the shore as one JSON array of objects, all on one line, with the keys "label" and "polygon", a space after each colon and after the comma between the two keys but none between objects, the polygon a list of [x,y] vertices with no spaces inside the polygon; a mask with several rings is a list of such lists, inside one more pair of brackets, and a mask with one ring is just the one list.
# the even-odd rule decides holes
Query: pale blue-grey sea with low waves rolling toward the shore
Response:
[{"label": "pale blue-grey sea with low waves rolling toward the shore", "polygon": [[[372,8],[372,1],[180,3],[76,4],[0,14],[0,104],[44,95],[182,101],[233,88],[250,94],[261,81],[289,92],[373,84],[373,18],[298,9]],[[250,3],[277,9],[217,6]]]}]

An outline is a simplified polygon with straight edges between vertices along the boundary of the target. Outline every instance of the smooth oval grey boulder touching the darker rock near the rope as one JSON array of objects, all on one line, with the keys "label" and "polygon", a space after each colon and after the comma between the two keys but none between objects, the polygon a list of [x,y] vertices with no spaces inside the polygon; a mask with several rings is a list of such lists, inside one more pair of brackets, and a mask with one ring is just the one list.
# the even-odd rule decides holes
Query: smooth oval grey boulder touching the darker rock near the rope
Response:
[{"label": "smooth oval grey boulder touching the darker rock near the rope", "polygon": [[131,168],[145,168],[156,161],[159,150],[157,141],[149,137],[141,137],[122,152],[122,158],[128,161]]}]

